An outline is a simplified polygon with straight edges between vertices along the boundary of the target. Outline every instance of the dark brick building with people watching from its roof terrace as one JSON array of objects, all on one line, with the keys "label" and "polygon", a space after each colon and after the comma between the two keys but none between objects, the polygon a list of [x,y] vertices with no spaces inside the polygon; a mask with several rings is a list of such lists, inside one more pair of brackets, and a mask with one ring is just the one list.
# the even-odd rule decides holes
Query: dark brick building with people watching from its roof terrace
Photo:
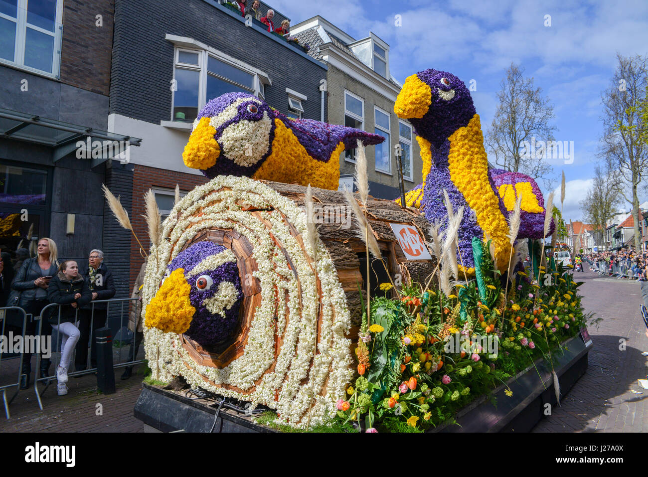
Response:
[{"label": "dark brick building with people watching from its roof terrace", "polygon": [[[275,26],[283,17],[275,10]],[[286,115],[319,120],[326,108],[319,84],[326,75],[327,66],[299,45],[214,0],[115,0],[108,124],[110,131],[142,139],[130,153],[132,176],[122,178],[124,189],[132,185],[132,223],[140,240],[147,240],[141,215],[148,189],[165,215],[176,183],[185,194],[206,181],[181,156],[208,100],[247,91]],[[139,244],[131,237],[121,253],[133,283],[143,261]]]}]

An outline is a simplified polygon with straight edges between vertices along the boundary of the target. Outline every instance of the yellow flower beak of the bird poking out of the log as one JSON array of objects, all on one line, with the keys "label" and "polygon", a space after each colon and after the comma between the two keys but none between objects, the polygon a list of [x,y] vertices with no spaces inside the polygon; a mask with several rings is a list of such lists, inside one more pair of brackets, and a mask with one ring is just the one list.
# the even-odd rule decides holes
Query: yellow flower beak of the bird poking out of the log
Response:
[{"label": "yellow flower beak of the bird poking out of the log", "polygon": [[186,332],[196,313],[189,301],[189,292],[191,286],[185,279],[185,270],[174,270],[146,306],[146,327],[178,334]]}]

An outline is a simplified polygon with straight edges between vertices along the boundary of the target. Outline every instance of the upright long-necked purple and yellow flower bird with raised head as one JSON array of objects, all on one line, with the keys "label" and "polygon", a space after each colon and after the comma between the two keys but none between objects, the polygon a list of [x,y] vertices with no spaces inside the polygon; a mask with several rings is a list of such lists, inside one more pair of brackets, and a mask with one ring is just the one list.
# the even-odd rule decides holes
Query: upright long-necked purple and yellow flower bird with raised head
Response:
[{"label": "upright long-necked purple and yellow flower bird with raised head", "polygon": [[[406,194],[407,204],[420,207],[430,222],[440,220],[443,230],[447,225],[445,189],[455,212],[464,206],[457,251],[459,268],[474,273],[472,237],[478,237],[484,242],[492,239],[495,261],[505,269],[511,250],[507,237],[509,213],[489,173],[480,117],[463,81],[435,69],[411,75],[405,80],[394,110],[413,125],[423,161],[423,182]],[[516,187],[515,191],[521,192],[524,187]],[[537,185],[531,189],[537,199],[535,204],[542,208],[544,202]],[[515,192],[511,197],[515,204]],[[538,207],[529,206],[527,212],[539,213]],[[544,213],[542,217],[544,220]]]}]

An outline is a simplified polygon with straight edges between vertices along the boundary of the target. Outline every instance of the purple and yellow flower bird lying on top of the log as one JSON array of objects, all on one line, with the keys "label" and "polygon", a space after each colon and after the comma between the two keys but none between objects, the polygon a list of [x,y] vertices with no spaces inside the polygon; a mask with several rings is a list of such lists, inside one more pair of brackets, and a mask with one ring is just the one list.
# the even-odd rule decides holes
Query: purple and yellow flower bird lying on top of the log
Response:
[{"label": "purple and yellow flower bird lying on top of the log", "polygon": [[248,93],[209,101],[194,121],[183,160],[210,179],[237,176],[338,189],[340,154],[384,137],[312,119],[290,119]]}]

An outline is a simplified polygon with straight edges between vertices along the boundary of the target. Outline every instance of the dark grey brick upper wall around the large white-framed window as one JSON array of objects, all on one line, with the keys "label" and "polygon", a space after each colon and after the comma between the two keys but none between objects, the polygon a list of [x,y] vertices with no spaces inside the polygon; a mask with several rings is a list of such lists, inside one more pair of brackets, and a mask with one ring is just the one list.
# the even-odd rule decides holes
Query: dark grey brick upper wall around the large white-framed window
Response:
[{"label": "dark grey brick upper wall around the large white-framed window", "polygon": [[325,65],[220,8],[204,0],[115,0],[110,113],[156,124],[171,119],[174,45],[165,35],[174,34],[268,73],[272,86],[266,87],[266,101],[283,113],[288,111],[286,87],[307,95],[303,117],[319,119]]}]

